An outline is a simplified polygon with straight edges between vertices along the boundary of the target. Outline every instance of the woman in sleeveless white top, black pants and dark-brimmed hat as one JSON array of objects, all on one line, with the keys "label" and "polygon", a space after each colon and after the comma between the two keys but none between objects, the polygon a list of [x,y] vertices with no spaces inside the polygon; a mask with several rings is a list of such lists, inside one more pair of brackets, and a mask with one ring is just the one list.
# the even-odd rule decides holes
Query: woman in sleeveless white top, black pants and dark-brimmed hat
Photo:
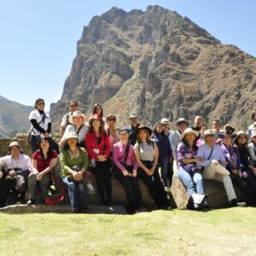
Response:
[{"label": "woman in sleeveless white top, black pants and dark-brimmed hat", "polygon": [[146,125],[137,128],[137,143],[134,146],[138,168],[138,177],[148,187],[149,193],[160,209],[172,209],[167,199],[163,183],[158,172],[157,145],[150,139],[151,129]]}]

